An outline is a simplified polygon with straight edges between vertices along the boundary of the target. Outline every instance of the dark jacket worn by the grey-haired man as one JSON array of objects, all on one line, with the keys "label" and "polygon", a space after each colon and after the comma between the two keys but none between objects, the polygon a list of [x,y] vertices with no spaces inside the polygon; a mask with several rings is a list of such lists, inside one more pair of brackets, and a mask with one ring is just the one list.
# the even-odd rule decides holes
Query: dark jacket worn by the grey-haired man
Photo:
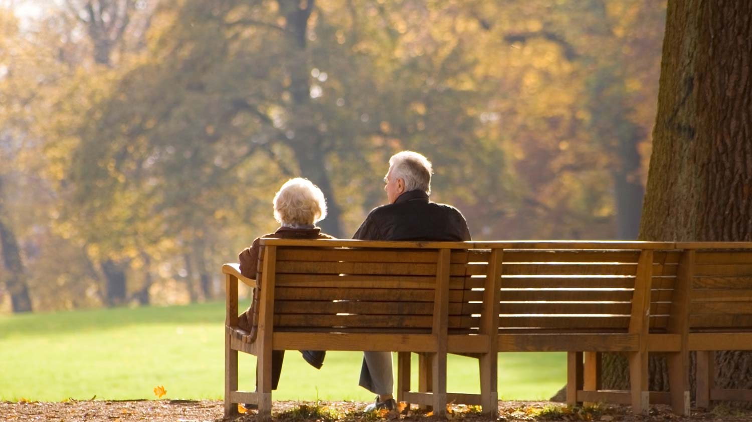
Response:
[{"label": "dark jacket worn by the grey-haired man", "polygon": [[424,191],[408,191],[378,206],[355,232],[359,240],[470,240],[465,217],[450,205],[431,202]]}]

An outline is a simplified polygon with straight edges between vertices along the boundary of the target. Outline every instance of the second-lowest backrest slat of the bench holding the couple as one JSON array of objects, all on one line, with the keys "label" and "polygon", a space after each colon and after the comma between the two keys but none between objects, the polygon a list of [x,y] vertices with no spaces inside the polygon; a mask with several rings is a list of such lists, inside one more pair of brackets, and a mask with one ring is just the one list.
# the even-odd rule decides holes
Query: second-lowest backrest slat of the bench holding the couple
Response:
[{"label": "second-lowest backrest slat of the bench holding the couple", "polygon": [[[449,315],[471,315],[481,313],[481,303],[449,304]],[[365,301],[323,301],[323,300],[277,300],[275,314],[338,314],[357,315],[433,315],[430,302],[365,302]],[[316,317],[312,317],[316,318]]]}]

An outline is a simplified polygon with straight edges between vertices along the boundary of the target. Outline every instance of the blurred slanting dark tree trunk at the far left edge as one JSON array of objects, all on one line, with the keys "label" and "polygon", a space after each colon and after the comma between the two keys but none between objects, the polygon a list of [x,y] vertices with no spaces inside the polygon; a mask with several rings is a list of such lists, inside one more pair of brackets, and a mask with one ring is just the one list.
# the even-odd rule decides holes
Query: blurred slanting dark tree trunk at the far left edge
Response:
[{"label": "blurred slanting dark tree trunk at the far left edge", "polygon": [[6,214],[2,176],[0,176],[0,248],[2,248],[3,264],[11,273],[5,279],[5,285],[11,293],[11,309],[14,313],[32,312],[32,300],[29,297],[29,285],[26,284],[24,278],[18,242]]}]

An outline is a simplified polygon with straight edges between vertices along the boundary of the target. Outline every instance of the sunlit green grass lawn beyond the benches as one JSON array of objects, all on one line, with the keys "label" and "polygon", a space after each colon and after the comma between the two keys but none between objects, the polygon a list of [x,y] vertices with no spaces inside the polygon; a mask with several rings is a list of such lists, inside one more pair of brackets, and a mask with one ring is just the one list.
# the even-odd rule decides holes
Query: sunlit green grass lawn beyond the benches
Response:
[{"label": "sunlit green grass lawn beyond the benches", "polygon": [[[170,399],[220,399],[223,330],[223,302],[0,316],[0,399],[150,399],[158,385]],[[274,399],[370,400],[361,360],[329,352],[316,370],[288,351]],[[480,390],[478,360],[448,364],[450,391]],[[255,358],[241,353],[240,366],[241,389],[253,390]],[[414,355],[414,385],[416,366]],[[501,399],[547,399],[565,382],[563,353],[499,354]]]}]

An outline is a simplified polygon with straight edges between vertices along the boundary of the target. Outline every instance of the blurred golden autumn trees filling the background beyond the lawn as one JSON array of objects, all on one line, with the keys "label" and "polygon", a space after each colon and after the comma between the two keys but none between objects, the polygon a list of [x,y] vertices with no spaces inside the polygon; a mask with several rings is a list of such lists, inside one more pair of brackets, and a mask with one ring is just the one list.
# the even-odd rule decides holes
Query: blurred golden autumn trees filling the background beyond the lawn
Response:
[{"label": "blurred golden autumn trees filling the background beyond the lawn", "polygon": [[665,8],[0,0],[0,304],[211,299],[284,180],[350,237],[401,149],[476,239],[635,238]]}]

